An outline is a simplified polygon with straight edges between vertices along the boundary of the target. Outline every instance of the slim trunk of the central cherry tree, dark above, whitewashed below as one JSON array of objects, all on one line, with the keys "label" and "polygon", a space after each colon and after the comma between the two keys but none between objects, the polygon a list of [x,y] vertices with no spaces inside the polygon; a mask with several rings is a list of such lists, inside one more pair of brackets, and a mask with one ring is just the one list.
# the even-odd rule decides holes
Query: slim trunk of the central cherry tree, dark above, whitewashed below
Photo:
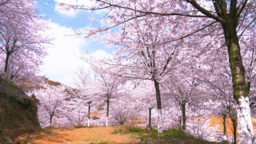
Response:
[{"label": "slim trunk of the central cherry tree, dark above, whitewashed below", "polygon": [[154,80],[156,95],[157,95],[157,106],[158,106],[158,133],[163,132],[163,121],[162,121],[162,106],[161,106],[161,98],[160,98],[160,89],[159,83],[157,80]]}]

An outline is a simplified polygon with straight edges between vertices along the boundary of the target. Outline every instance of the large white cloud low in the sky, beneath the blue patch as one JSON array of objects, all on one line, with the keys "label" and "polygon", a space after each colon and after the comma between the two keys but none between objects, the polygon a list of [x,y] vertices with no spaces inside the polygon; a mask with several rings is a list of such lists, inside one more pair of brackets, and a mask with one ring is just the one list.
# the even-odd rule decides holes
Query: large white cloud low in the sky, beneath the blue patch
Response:
[{"label": "large white cloud low in the sky, beneath the blue patch", "polygon": [[[89,69],[84,60],[81,60],[81,49],[94,48],[93,43],[87,43],[84,36],[74,35],[73,28],[60,26],[59,24],[49,23],[51,29],[47,31],[49,36],[54,37],[52,46],[49,48],[49,57],[44,59],[45,64],[41,66],[43,72],[50,80],[60,82],[75,88],[73,77],[76,76],[78,68]],[[72,36],[71,36],[72,35]],[[111,55],[104,50],[97,50],[91,56],[102,59],[109,58]],[[84,55],[86,57],[86,55]]]}]

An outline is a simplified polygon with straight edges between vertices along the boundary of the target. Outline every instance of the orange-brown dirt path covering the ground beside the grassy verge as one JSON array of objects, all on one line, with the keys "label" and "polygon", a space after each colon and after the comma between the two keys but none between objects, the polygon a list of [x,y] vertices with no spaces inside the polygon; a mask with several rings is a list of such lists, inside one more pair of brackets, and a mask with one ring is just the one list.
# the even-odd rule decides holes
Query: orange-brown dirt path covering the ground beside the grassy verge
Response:
[{"label": "orange-brown dirt path covering the ground beside the grassy verge", "polygon": [[140,140],[119,134],[112,134],[114,127],[79,129],[53,129],[32,135],[20,136],[19,142],[26,144],[135,144]]}]

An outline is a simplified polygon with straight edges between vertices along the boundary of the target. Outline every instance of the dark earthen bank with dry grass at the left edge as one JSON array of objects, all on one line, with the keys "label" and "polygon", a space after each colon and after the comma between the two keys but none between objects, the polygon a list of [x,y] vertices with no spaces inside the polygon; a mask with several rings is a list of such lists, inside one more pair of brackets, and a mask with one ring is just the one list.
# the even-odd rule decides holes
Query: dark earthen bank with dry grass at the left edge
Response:
[{"label": "dark earthen bank with dry grass at the left edge", "polygon": [[41,130],[36,103],[37,99],[26,96],[21,88],[0,79],[0,144]]}]

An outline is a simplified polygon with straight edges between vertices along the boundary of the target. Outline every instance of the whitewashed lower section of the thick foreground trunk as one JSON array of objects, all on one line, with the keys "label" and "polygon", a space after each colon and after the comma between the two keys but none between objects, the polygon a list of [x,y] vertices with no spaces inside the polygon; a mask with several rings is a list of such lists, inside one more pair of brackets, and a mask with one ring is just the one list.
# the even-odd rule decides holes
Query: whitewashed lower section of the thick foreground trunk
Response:
[{"label": "whitewashed lower section of the thick foreground trunk", "polygon": [[255,144],[255,135],[249,106],[249,98],[241,96],[236,105],[237,111],[237,144]]}]

